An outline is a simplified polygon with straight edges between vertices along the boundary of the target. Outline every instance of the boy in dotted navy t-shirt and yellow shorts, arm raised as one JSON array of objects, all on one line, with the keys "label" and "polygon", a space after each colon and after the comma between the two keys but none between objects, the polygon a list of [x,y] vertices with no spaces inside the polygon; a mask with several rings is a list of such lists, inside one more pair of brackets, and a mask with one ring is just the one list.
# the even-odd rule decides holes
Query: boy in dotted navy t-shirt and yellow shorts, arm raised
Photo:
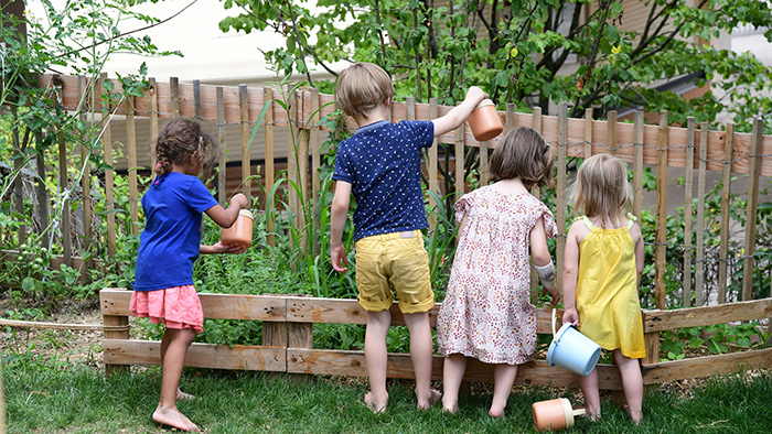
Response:
[{"label": "boy in dotted navy t-shirt and yellow shorts, arm raised", "polygon": [[[431,390],[433,345],[428,311],[435,305],[429,257],[420,229],[428,221],[421,191],[421,148],[435,137],[460,127],[486,97],[472,86],[467,98],[447,115],[431,121],[392,123],[394,85],[389,75],[371,63],[356,63],[337,78],[335,99],[360,127],[337,145],[335,195],[331,216],[332,265],[347,270],[342,242],[351,195],[356,199],[354,240],[358,302],[367,311],[365,361],[369,392],[365,404],[376,413],[388,403],[386,390],[386,334],[389,307],[397,294],[410,333],[410,357],[416,375],[419,409],[440,398]],[[394,292],[393,292],[394,291]]]}]

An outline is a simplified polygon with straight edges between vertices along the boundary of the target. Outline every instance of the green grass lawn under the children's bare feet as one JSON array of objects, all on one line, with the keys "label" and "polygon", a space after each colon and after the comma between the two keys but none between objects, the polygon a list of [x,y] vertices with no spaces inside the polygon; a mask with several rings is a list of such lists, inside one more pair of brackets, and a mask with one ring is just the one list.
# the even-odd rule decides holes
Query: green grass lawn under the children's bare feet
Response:
[{"label": "green grass lawn under the children's bare feet", "polygon": [[[163,433],[150,419],[160,370],[142,369],[108,379],[84,366],[41,362],[4,367],[8,433]],[[571,391],[518,388],[506,416],[487,416],[491,397],[472,393],[457,415],[415,409],[412,383],[393,381],[385,414],[362,404],[366,382],[346,378],[291,377],[264,372],[186,370],[182,388],[199,397],[180,409],[205,433],[533,433],[530,405]],[[475,388],[476,389],[476,388]],[[623,410],[603,401],[603,417],[578,417],[566,433],[770,433],[772,375],[711,378],[684,393],[652,389],[644,422],[633,425]]]}]

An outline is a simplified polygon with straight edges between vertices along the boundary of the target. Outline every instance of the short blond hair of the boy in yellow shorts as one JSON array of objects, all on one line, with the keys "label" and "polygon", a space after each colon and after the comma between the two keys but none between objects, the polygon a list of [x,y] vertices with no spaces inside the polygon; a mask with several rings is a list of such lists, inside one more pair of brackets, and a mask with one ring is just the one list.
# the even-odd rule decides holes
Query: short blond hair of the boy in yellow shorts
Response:
[{"label": "short blond hair of the boy in yellow shorts", "polygon": [[379,105],[394,97],[392,77],[378,65],[361,62],[341,73],[335,85],[335,99],[346,115],[367,118]]}]

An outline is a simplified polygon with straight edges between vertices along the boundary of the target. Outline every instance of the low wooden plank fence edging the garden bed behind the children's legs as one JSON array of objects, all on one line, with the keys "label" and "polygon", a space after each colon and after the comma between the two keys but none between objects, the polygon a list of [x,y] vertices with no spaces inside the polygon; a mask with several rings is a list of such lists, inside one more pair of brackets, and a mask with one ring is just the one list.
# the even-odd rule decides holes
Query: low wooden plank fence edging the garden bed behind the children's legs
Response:
[{"label": "low wooden plank fence edging the garden bed behind the children's legs", "polygon": [[[160,341],[129,338],[129,301],[131,291],[104,289],[99,294],[105,326],[126,326],[124,330],[105,332],[104,356],[108,373],[128,365],[160,365]],[[317,299],[283,295],[201,294],[206,318],[262,322],[262,345],[213,345],[194,343],[185,366],[214,369],[261,370],[288,373],[312,373],[366,377],[364,351],[313,348],[313,324],[365,324],[367,313],[356,300]],[[436,325],[440,304],[429,312]],[[394,303],[393,324],[405,325]],[[666,329],[751,321],[772,316],[772,299],[741,302],[709,307],[672,311],[645,311],[644,333],[646,358],[643,360],[644,384],[654,384],[687,378],[738,372],[743,369],[772,366],[772,348],[753,349],[718,356],[658,361],[658,334]],[[551,335],[551,308],[537,312],[537,329]],[[118,327],[119,328],[119,327]],[[435,356],[433,379],[442,378],[441,356]],[[621,390],[619,369],[599,364],[599,384],[604,390]],[[389,378],[415,378],[408,354],[389,354]],[[493,381],[490,365],[470,360],[465,381]],[[575,384],[577,376],[558,367],[549,367],[544,359],[521,366],[517,383],[564,387]],[[576,384],[575,384],[576,386]]]}]

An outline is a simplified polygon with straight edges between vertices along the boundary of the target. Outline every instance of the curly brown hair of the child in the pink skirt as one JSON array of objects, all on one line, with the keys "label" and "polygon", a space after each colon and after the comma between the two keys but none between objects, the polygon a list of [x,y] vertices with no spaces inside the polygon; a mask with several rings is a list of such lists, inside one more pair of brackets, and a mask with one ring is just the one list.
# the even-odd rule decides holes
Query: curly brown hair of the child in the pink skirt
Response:
[{"label": "curly brown hair of the child in the pink skirt", "polygon": [[156,156],[153,170],[158,175],[165,175],[172,171],[172,163],[184,164],[192,159],[203,162],[208,172],[217,161],[218,145],[199,122],[175,118],[161,129],[152,149]]}]

